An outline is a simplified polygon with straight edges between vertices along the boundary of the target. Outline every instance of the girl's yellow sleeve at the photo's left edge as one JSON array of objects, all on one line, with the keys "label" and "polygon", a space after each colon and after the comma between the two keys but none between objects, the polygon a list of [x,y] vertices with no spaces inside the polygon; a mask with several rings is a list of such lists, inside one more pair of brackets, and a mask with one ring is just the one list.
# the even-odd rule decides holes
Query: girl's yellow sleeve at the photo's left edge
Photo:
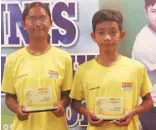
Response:
[{"label": "girl's yellow sleeve at the photo's left edge", "polygon": [[4,66],[4,73],[3,73],[3,80],[2,80],[2,92],[16,94],[14,88],[14,81],[13,73],[12,73],[12,63],[9,58],[6,59],[5,66]]}]

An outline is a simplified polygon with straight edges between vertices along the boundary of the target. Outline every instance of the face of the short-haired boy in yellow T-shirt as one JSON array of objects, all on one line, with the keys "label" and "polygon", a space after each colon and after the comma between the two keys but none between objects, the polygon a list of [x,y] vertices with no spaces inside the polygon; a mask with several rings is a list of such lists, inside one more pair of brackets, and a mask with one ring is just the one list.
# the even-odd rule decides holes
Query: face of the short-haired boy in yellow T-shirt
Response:
[{"label": "face of the short-haired boy in yellow T-shirt", "polygon": [[101,51],[112,52],[117,49],[125,33],[119,30],[118,23],[104,21],[96,25],[95,33],[92,33],[91,36]]}]

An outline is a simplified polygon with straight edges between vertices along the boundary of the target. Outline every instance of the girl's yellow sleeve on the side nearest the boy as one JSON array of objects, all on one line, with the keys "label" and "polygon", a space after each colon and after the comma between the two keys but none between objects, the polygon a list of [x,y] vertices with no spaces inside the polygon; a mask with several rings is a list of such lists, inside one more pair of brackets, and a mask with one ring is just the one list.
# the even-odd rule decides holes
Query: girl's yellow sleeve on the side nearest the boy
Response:
[{"label": "girl's yellow sleeve on the side nearest the boy", "polygon": [[61,86],[61,91],[71,90],[72,81],[73,81],[72,60],[71,60],[71,56],[69,55],[65,62],[65,74]]}]

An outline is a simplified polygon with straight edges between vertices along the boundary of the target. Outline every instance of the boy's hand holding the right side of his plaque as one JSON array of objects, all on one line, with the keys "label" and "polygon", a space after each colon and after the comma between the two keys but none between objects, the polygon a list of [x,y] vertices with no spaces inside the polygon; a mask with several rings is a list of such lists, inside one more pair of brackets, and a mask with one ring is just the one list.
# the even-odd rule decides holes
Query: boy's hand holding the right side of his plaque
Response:
[{"label": "boy's hand holding the right side of his plaque", "polygon": [[128,126],[129,123],[131,122],[133,116],[135,115],[134,113],[135,113],[134,110],[129,110],[119,120],[113,120],[111,122],[118,126]]}]

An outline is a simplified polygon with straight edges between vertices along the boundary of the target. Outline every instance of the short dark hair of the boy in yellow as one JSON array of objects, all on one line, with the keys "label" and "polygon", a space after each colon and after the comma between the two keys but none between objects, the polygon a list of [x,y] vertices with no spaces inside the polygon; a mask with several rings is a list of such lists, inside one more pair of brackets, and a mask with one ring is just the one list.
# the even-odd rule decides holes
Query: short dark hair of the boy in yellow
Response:
[{"label": "short dark hair of the boy in yellow", "polygon": [[96,25],[104,21],[117,22],[119,25],[119,30],[122,31],[123,17],[120,11],[110,9],[97,11],[92,18],[92,28],[94,33],[96,30]]}]

